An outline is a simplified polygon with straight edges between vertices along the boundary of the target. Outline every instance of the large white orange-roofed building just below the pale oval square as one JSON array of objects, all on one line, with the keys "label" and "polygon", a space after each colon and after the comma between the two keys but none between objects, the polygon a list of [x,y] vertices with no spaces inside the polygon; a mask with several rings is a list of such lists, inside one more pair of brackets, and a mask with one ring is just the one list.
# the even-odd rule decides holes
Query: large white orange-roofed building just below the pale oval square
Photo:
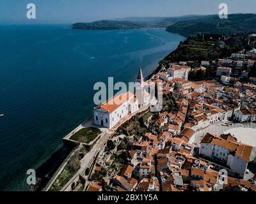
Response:
[{"label": "large white orange-roofed building just below the pale oval square", "polygon": [[215,136],[207,133],[200,143],[199,154],[215,168],[225,168],[231,175],[243,178],[252,147],[237,142],[231,135]]}]

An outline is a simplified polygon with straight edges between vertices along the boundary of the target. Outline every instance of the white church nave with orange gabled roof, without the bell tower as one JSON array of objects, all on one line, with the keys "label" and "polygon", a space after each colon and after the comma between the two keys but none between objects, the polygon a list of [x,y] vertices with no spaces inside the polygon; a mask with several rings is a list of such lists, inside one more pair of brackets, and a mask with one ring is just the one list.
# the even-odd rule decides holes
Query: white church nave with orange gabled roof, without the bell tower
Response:
[{"label": "white church nave with orange gabled roof, without the bell tower", "polygon": [[94,124],[113,128],[125,116],[138,110],[138,99],[131,92],[125,92],[94,108]]}]

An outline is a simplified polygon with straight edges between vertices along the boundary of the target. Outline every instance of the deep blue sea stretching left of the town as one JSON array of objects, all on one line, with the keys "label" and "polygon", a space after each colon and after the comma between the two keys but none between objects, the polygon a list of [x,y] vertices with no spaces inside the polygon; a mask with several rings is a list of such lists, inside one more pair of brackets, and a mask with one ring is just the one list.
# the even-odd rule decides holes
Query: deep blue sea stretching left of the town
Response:
[{"label": "deep blue sea stretching left of the town", "polygon": [[95,82],[134,82],[182,40],[164,29],[0,25],[0,190],[29,189],[26,171],[92,115]]}]

